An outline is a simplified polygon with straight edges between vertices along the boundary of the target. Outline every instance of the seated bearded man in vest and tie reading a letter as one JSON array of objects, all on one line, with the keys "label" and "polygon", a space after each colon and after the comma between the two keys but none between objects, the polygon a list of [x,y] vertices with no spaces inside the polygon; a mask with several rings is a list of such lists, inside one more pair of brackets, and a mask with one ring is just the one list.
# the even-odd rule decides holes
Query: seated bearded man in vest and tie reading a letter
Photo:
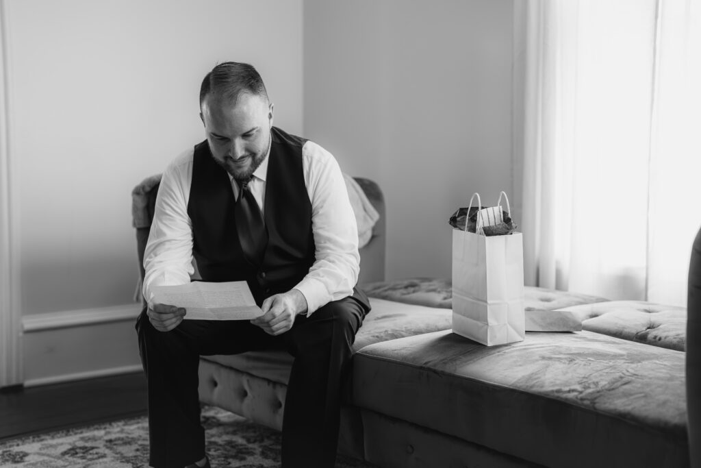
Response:
[{"label": "seated bearded man in vest and tie reading a letter", "polygon": [[[273,127],[254,67],[217,65],[200,88],[206,140],[163,173],[144,253],[137,320],[149,387],[151,465],[209,466],[200,425],[200,355],[285,347],[294,356],[283,415],[285,467],[333,466],[341,380],[367,297],[355,289],[358,232],[343,176],[319,145]],[[183,320],[157,285],[247,281],[264,315]]]}]

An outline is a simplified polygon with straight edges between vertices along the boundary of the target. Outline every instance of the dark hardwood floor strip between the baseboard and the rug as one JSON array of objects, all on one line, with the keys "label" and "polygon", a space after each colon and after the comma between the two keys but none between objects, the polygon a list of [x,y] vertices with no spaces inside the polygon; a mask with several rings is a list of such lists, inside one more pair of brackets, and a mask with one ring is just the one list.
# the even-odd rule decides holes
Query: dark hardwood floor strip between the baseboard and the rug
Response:
[{"label": "dark hardwood floor strip between the baseboard and the rug", "polygon": [[146,413],[143,373],[1,389],[0,441]]}]

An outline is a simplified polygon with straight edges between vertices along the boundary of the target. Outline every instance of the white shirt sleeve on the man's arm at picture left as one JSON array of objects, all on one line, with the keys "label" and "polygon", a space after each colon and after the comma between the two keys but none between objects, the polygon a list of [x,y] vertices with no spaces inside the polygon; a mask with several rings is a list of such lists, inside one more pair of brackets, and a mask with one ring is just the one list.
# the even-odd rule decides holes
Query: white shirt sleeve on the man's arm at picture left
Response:
[{"label": "white shirt sleeve on the man's arm at picture left", "polygon": [[190,282],[192,229],[187,214],[192,150],[182,154],[163,173],[158,187],[154,220],[144,250],[144,297],[152,306],[154,286],[173,286]]}]

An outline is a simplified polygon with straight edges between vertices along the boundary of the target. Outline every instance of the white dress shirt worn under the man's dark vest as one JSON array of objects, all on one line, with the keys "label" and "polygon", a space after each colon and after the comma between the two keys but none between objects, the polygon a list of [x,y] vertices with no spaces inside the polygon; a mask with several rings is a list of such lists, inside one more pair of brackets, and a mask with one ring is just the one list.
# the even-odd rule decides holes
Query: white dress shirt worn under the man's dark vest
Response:
[{"label": "white dress shirt worn under the man's dark vest", "polygon": [[[144,297],[151,305],[151,288],[189,283],[193,278],[192,222],[187,214],[194,149],[180,154],[165,170],[156,197],[154,220],[144,251]],[[311,201],[315,261],[297,286],[308,312],[353,294],[358,281],[360,254],[358,226],[348,199],[339,164],[314,142],[302,147],[304,183]],[[254,171],[248,187],[261,210],[266,191],[268,157]],[[238,199],[238,185],[231,175]]]}]

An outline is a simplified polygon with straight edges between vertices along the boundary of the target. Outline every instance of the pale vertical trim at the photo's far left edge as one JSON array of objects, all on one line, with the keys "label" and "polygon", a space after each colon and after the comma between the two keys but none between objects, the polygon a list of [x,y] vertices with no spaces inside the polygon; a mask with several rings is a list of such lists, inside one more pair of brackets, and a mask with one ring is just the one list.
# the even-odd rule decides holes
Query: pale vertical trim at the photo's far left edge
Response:
[{"label": "pale vertical trim at the photo's far left edge", "polygon": [[0,387],[22,383],[22,309],[17,225],[13,195],[8,2],[0,0]]}]

